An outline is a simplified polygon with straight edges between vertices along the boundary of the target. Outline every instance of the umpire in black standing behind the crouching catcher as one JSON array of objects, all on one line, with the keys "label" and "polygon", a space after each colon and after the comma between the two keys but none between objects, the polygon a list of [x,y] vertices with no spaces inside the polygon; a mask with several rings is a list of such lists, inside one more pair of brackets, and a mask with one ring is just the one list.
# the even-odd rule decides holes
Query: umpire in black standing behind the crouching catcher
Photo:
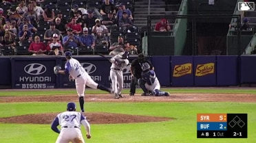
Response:
[{"label": "umpire in black standing behind the crouching catcher", "polygon": [[153,65],[149,60],[145,59],[143,53],[138,54],[138,58],[131,62],[131,88],[130,88],[130,96],[134,96],[136,92],[136,85],[139,85],[143,90],[142,96],[150,95],[149,91],[145,88],[145,83],[141,80],[142,69],[141,66],[143,63],[149,63],[150,69],[153,70]]}]

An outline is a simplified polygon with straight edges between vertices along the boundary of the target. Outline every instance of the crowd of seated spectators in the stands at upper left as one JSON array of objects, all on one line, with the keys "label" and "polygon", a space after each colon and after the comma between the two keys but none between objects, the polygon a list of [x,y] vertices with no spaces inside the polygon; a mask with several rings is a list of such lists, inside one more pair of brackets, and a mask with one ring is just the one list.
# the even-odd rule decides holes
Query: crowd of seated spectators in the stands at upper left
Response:
[{"label": "crowd of seated spectators in the stands at upper left", "polygon": [[[0,4],[0,49],[14,55],[102,52],[138,54],[131,1],[6,0]],[[127,36],[129,35],[129,36]],[[3,52],[2,52],[3,53]],[[10,55],[11,52],[10,52]]]}]

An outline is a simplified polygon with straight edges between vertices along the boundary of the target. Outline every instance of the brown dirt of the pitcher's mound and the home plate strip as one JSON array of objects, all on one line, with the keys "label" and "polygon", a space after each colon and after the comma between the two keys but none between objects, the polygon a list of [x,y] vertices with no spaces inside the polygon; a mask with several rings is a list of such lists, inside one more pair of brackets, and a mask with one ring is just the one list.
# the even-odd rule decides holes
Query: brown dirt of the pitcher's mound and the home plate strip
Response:
[{"label": "brown dirt of the pitcher's mound and the home plate strip", "polygon": [[[129,96],[124,94],[122,99],[114,99],[111,94],[86,94],[85,102],[246,102],[256,103],[255,94],[171,94],[171,96]],[[1,96],[0,103],[14,102],[69,102],[77,101],[76,94],[56,96]],[[57,113],[30,114],[8,118],[0,118],[0,122],[50,124]],[[85,114],[91,124],[116,124],[129,122],[159,122],[172,120],[152,116],[135,116],[127,114],[88,113]]]}]

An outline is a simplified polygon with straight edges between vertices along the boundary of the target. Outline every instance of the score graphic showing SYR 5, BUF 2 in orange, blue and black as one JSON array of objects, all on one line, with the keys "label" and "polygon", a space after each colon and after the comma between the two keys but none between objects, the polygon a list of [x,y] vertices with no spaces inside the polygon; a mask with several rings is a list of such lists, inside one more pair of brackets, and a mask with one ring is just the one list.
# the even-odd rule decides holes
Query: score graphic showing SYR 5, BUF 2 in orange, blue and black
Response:
[{"label": "score graphic showing SYR 5, BUF 2 in orange, blue and black", "polygon": [[247,114],[197,114],[198,138],[247,138]]}]

